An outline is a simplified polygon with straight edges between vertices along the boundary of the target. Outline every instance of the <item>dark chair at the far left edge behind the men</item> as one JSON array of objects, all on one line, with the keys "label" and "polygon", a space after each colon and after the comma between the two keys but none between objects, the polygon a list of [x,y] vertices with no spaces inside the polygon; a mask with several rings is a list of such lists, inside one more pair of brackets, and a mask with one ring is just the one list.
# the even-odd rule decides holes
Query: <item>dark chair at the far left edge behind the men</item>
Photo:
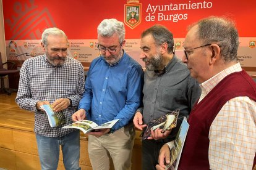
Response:
[{"label": "dark chair at the far left edge behind the men", "polygon": [[[7,64],[9,66],[9,69],[4,68],[3,66]],[[4,76],[11,75],[14,73],[19,73],[19,70],[12,70],[15,66],[14,62],[5,62],[2,63],[2,56],[0,52],[0,78],[1,78],[1,89],[0,92],[7,93],[8,95],[11,95],[12,92],[17,92],[17,89],[8,89],[4,87]]]}]

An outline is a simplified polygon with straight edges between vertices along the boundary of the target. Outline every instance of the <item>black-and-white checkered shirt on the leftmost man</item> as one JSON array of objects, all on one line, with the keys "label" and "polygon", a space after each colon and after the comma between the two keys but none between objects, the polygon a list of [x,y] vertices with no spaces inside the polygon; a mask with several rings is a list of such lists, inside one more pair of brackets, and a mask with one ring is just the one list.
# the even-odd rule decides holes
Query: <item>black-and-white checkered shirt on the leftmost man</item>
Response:
[{"label": "black-and-white checkered shirt on the leftmost man", "polygon": [[51,127],[46,113],[36,110],[36,102],[69,98],[72,107],[63,110],[67,123],[72,123],[71,116],[77,110],[84,91],[84,71],[82,64],[70,57],[66,57],[64,65],[54,67],[45,55],[32,57],[20,69],[19,90],[15,101],[20,108],[35,111],[35,132],[46,137],[61,137],[75,131]]}]

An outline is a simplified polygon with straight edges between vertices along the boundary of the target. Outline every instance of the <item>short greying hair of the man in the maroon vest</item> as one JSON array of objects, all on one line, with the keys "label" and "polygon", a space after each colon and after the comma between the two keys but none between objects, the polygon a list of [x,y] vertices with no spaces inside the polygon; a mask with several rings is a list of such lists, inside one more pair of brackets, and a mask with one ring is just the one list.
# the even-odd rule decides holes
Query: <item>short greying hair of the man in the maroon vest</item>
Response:
[{"label": "short greying hair of the man in the maroon vest", "polygon": [[220,55],[225,62],[238,61],[239,35],[236,24],[232,20],[211,16],[199,20],[192,26],[195,25],[198,25],[198,39],[204,44],[218,44],[221,49]]}]

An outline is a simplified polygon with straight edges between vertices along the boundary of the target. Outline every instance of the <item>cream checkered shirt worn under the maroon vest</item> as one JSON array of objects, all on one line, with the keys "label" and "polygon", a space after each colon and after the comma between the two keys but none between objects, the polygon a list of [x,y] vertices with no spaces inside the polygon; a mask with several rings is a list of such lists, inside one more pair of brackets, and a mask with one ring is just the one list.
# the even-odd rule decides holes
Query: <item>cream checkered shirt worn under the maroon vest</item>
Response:
[{"label": "cream checkered shirt worn under the maroon vest", "polygon": [[[237,63],[200,84],[199,101],[224,77],[241,70]],[[210,169],[252,169],[256,152],[256,102],[245,96],[226,102],[211,124],[209,139]]]}]

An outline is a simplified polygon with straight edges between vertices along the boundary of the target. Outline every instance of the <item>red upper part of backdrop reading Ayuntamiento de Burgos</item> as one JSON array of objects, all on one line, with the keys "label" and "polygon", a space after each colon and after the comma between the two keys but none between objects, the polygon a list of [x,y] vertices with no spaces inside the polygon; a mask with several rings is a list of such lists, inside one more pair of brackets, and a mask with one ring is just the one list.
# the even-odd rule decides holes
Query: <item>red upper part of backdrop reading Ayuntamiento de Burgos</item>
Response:
[{"label": "red upper part of backdrop reading Ayuntamiento de Burgos", "polygon": [[[126,38],[140,38],[146,28],[160,23],[184,38],[191,23],[209,15],[228,16],[237,23],[241,37],[256,36],[256,1],[185,0],[2,0],[6,40],[40,39],[51,26],[64,30],[69,39],[96,39],[96,27],[105,18],[126,21],[127,6],[139,6],[138,24],[126,25]],[[139,14],[138,14],[139,13]]]}]

